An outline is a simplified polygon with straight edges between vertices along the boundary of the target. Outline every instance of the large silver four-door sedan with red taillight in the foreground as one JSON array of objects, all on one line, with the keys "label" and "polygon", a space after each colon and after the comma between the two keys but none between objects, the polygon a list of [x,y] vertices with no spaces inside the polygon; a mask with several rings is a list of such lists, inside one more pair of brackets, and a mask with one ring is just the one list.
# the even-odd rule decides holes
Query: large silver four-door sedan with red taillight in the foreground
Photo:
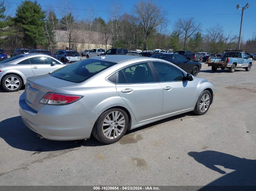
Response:
[{"label": "large silver four-door sedan with red taillight in the foreground", "polygon": [[156,58],[109,55],[27,79],[23,122],[52,140],[117,142],[126,132],[167,117],[206,113],[214,86]]}]

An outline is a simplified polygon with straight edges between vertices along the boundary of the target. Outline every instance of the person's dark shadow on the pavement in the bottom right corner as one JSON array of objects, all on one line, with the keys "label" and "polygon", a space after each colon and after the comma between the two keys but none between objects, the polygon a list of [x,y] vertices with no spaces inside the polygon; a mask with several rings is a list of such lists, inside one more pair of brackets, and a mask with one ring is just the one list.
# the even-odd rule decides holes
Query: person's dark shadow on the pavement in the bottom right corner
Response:
[{"label": "person's dark shadow on the pavement in the bottom right corner", "polygon": [[[189,152],[188,155],[209,169],[223,174],[205,188],[207,186],[256,186],[256,160],[239,158],[218,151]],[[215,165],[235,171],[226,173]]]}]

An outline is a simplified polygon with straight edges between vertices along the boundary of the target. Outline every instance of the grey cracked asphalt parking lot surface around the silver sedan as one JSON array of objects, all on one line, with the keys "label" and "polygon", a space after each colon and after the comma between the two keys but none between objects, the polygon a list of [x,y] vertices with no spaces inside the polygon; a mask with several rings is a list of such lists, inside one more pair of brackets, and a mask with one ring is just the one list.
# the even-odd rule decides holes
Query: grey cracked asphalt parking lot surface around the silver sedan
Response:
[{"label": "grey cracked asphalt parking lot surface around the silver sedan", "polygon": [[111,145],[39,139],[18,112],[24,87],[0,88],[0,185],[255,185],[255,72],[256,61],[234,73],[203,63],[198,77],[215,86],[205,115],[151,123]]}]

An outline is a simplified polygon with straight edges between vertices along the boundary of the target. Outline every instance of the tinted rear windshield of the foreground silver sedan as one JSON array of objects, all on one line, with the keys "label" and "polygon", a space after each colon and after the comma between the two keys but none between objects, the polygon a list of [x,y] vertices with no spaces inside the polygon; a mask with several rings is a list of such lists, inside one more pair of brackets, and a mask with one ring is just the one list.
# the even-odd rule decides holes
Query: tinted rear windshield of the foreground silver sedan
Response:
[{"label": "tinted rear windshield of the foreground silver sedan", "polygon": [[115,62],[104,60],[85,59],[59,68],[50,73],[50,75],[62,80],[81,83],[115,64]]}]

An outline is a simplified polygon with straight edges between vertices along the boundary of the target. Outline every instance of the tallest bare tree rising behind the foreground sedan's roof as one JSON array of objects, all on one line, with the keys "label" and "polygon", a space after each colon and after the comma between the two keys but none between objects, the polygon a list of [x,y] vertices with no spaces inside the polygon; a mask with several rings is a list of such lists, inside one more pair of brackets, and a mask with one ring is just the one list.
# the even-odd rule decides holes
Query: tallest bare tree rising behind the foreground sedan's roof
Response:
[{"label": "tallest bare tree rising behind the foreground sedan's roof", "polygon": [[151,0],[148,0],[148,2],[141,1],[134,8],[135,13],[138,15],[138,26],[143,34],[143,50],[146,50],[148,37],[164,22],[167,13]]}]

